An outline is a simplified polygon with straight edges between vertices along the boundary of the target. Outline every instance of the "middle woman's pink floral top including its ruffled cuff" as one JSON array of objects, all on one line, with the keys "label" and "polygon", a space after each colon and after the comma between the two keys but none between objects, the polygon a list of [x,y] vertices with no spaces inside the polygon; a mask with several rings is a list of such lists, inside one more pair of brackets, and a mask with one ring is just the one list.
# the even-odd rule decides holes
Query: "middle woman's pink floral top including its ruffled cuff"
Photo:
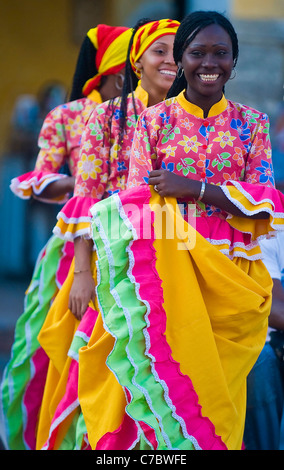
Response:
[{"label": "middle woman's pink floral top including its ruffled cuff", "polygon": [[146,108],[148,94],[138,85],[127,98],[126,132],[120,141],[121,99],[107,101],[92,113],[82,138],[74,196],[58,214],[54,233],[61,238],[90,234],[90,207],[98,200],[126,189],[129,157],[137,116]]}]

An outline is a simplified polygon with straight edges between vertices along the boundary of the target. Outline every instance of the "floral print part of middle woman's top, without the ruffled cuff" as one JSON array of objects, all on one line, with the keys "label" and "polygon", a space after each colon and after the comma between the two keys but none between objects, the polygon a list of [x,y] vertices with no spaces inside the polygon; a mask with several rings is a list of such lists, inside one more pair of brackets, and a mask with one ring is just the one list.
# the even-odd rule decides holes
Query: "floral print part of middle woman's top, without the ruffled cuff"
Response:
[{"label": "floral print part of middle woman's top, without the ruffled cuff", "polygon": [[[101,199],[126,189],[129,157],[139,115],[148,94],[138,86],[127,98],[127,120],[120,139],[120,98],[99,105],[91,115],[82,139],[74,196]],[[137,113],[137,114],[136,114]]]}]

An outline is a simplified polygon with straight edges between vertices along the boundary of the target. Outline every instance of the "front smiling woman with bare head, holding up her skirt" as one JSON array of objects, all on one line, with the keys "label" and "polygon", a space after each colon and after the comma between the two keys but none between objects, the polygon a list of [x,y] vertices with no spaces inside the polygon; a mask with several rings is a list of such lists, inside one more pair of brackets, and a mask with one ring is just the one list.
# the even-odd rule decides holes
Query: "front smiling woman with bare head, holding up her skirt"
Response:
[{"label": "front smiling woman with bare head, holding up her skirt", "polygon": [[94,442],[94,410],[104,408],[108,423],[119,416],[97,441],[105,449],[128,448],[135,433],[140,448],[242,448],[246,379],[271,304],[259,240],[284,229],[284,198],[268,117],[224,94],[237,57],[223,15],[181,22],[177,78],[168,99],[139,116],[128,189],[91,208],[103,329],[80,351],[79,399]]}]

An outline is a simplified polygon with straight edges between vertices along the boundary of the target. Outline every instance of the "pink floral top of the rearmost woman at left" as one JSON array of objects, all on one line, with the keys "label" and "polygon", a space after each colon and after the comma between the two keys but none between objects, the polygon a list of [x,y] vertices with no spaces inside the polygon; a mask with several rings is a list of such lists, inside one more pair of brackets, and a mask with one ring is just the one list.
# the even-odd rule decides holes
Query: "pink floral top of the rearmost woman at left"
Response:
[{"label": "pink floral top of the rearmost woman at left", "polygon": [[[92,96],[92,95],[91,95]],[[93,98],[82,98],[57,106],[46,116],[41,128],[38,145],[39,154],[35,169],[14,178],[12,191],[23,199],[31,196],[44,202],[65,202],[68,195],[55,200],[41,197],[43,189],[66,175],[60,173],[68,165],[72,176],[77,174],[79,149],[85,124],[94,110],[101,103],[98,92]]]}]

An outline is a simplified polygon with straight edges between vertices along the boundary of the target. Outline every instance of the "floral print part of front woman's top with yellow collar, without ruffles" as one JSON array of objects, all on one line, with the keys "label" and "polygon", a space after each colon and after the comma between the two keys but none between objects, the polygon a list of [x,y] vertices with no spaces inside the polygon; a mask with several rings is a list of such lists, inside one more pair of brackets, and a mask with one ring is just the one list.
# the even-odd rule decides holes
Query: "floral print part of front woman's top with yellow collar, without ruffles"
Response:
[{"label": "floral print part of front woman's top with yellow collar, without ruffles", "polygon": [[[268,116],[224,96],[206,119],[184,93],[165,100],[139,118],[128,186],[147,183],[157,168],[217,185],[231,180],[274,187]],[[222,216],[197,203],[197,216],[216,213]]]}]

